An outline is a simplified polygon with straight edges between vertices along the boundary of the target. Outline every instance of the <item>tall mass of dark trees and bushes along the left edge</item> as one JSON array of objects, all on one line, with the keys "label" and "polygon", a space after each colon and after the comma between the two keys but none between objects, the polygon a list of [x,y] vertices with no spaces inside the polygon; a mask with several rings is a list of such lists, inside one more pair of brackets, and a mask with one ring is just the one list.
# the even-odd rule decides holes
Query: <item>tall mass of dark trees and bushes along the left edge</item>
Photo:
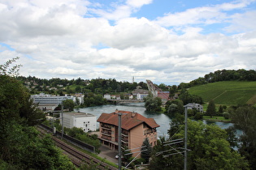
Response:
[{"label": "tall mass of dark trees and bushes along the left edge", "polygon": [[17,67],[7,71],[11,62],[0,66],[1,168],[73,169],[50,136],[39,138],[33,125],[43,121],[45,115],[32,105],[27,89],[12,76]]}]

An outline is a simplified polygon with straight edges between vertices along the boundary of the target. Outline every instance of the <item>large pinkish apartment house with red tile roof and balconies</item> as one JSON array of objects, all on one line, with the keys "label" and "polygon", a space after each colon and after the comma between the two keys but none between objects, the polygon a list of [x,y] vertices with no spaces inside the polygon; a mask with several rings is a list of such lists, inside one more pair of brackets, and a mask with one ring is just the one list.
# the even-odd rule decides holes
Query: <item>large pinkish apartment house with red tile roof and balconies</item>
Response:
[{"label": "large pinkish apartment house with red tile roof and balconies", "polygon": [[[121,127],[122,127],[122,147],[134,149],[141,147],[145,138],[148,138],[152,147],[157,144],[157,130],[158,125],[154,118],[143,117],[139,113],[115,110],[114,113],[102,113],[98,117],[99,138],[102,143],[108,145],[113,150],[118,149],[118,113],[122,113]],[[140,149],[132,150],[132,152],[140,151]],[[133,156],[136,156],[134,153]]]}]

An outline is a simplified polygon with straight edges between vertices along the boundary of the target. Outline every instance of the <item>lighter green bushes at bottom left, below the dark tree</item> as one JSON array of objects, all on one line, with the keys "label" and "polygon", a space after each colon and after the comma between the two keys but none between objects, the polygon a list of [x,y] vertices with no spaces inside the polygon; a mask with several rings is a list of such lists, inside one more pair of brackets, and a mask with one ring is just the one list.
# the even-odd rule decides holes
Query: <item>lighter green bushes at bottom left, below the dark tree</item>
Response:
[{"label": "lighter green bushes at bottom left, below the dark tree", "polygon": [[0,128],[2,159],[16,169],[73,169],[50,136],[39,138],[32,126],[9,121]]}]

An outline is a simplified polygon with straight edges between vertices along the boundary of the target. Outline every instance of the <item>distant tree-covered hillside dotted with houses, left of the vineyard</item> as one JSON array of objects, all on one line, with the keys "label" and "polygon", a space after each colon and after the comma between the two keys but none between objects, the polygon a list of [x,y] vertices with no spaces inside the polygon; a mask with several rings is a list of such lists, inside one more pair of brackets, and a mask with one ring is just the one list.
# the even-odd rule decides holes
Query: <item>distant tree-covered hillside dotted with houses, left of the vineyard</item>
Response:
[{"label": "distant tree-covered hillside dotted with houses, left of the vineyard", "polygon": [[[63,95],[64,93],[88,93],[93,92],[95,95],[104,95],[106,93],[115,92],[128,92],[136,89],[137,86],[141,86],[142,89],[147,89],[146,83],[128,83],[117,82],[115,79],[38,79],[36,77],[19,76],[24,85],[31,88],[31,93],[39,93],[44,91],[49,94]],[[37,84],[34,86],[33,84]],[[52,88],[52,90],[50,90]]]}]

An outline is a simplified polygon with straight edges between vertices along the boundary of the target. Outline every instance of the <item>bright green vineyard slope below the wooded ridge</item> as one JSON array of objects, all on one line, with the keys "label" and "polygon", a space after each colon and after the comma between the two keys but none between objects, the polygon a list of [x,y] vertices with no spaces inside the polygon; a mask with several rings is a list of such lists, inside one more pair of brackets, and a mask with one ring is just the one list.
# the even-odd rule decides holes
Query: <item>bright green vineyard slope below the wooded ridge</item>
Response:
[{"label": "bright green vineyard slope below the wooded ridge", "polygon": [[190,87],[189,93],[215,104],[256,104],[256,81],[222,81]]}]

